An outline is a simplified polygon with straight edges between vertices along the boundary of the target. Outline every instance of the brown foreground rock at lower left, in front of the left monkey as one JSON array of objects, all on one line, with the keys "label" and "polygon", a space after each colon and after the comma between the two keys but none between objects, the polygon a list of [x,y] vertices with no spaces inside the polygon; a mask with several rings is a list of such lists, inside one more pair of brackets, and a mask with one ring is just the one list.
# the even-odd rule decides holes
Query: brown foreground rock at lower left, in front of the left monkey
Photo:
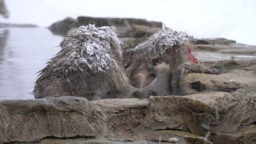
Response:
[{"label": "brown foreground rock at lower left, in front of the left monkey", "polygon": [[104,128],[100,112],[81,97],[0,101],[0,143],[47,137],[96,137]]}]

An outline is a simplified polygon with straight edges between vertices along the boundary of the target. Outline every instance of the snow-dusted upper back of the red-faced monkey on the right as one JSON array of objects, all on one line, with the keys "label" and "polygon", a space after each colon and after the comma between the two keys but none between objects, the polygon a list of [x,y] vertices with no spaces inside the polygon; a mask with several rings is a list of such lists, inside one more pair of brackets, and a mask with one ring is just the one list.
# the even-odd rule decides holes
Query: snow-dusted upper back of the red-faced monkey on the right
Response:
[{"label": "snow-dusted upper back of the red-faced monkey on the right", "polygon": [[133,69],[137,61],[146,60],[148,64],[151,64],[152,60],[160,58],[169,64],[172,70],[175,70],[186,61],[186,47],[191,45],[193,40],[193,37],[185,32],[163,28],[135,48],[125,50],[123,52],[124,65],[126,68],[130,67],[128,69]]}]

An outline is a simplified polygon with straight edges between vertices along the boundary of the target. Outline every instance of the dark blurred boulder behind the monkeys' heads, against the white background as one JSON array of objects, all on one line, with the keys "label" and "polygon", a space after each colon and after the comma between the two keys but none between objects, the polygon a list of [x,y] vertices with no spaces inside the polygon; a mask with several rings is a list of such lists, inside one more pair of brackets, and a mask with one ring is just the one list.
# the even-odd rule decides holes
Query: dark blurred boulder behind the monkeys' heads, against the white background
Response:
[{"label": "dark blurred boulder behind the monkeys' heads, against the white background", "polygon": [[[111,26],[117,27],[116,33],[122,37],[131,37],[132,28],[140,27],[139,32],[136,32],[135,36],[145,35],[145,33],[152,33],[162,27],[161,22],[147,21],[143,19],[132,19],[132,18],[95,18],[88,16],[79,16],[77,19],[66,18],[58,22],[53,23],[49,29],[56,35],[66,35],[72,28],[77,28],[81,25],[95,24],[96,27]],[[140,26],[134,26],[140,25]],[[142,28],[143,27],[143,28]],[[142,34],[141,34],[142,32]],[[140,33],[140,34],[137,34]],[[147,34],[146,34],[147,35]]]}]

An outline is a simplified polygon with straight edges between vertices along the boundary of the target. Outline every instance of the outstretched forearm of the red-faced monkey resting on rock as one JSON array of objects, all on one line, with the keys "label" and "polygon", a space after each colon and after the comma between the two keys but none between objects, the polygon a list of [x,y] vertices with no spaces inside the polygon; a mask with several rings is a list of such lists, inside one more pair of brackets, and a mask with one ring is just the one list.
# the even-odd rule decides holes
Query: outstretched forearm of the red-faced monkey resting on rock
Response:
[{"label": "outstretched forearm of the red-faced monkey resting on rock", "polygon": [[184,68],[188,70],[188,73],[207,73],[207,74],[219,74],[219,71],[215,68],[207,68],[203,67],[200,64],[194,64],[194,63],[186,63],[184,64]]}]

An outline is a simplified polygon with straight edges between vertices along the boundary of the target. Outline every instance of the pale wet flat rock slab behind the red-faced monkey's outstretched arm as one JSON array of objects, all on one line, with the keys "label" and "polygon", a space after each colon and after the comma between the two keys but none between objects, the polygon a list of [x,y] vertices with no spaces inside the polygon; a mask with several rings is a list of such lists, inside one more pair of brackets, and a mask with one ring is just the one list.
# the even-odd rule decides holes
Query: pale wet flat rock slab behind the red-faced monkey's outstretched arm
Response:
[{"label": "pale wet flat rock slab behind the red-faced monkey's outstretched arm", "polygon": [[[250,67],[256,63],[256,46],[239,44],[224,38],[200,40],[207,40],[208,43],[198,43],[197,40],[193,54],[204,66],[229,71],[232,68]],[[227,71],[222,73],[225,72]]]}]

